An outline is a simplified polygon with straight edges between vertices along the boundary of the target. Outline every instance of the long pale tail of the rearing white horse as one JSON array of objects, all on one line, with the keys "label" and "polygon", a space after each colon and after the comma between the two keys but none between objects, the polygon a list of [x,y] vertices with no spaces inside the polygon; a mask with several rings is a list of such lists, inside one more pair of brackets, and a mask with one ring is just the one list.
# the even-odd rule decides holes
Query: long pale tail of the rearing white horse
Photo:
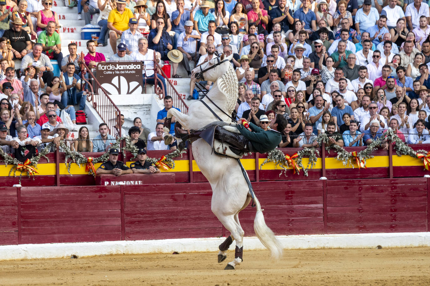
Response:
[{"label": "long pale tail of the rearing white horse", "polygon": [[254,219],[254,231],[261,243],[270,250],[271,258],[280,259],[283,254],[283,247],[280,241],[276,238],[275,234],[266,225],[263,216],[263,210],[261,209],[260,202],[258,202],[257,196],[254,195],[254,203],[257,208],[257,213]]}]

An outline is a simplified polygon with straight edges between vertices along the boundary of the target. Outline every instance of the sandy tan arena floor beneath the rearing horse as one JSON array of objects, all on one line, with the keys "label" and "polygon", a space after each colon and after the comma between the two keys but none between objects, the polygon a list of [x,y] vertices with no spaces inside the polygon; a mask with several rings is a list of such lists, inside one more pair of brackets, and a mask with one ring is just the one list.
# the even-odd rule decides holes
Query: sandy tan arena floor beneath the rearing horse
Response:
[{"label": "sandy tan arena floor beneath the rearing horse", "polygon": [[[237,270],[217,253],[112,255],[0,262],[1,285],[430,285],[430,247],[245,251]],[[228,260],[230,259],[230,260]]]}]

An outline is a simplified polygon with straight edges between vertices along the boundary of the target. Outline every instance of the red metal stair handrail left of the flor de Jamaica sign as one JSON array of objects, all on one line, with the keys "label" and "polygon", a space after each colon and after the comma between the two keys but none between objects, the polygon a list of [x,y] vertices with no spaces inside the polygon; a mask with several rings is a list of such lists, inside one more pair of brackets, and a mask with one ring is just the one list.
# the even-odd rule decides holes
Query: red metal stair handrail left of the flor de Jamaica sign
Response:
[{"label": "red metal stair handrail left of the flor de Jamaica sign", "polygon": [[86,72],[88,72],[92,77],[92,83],[83,78],[83,80],[91,88],[91,92],[87,92],[87,100],[92,102],[92,107],[95,109],[95,112],[97,112],[97,114],[101,117],[101,120],[103,120],[103,122],[109,127],[109,134],[114,137],[121,137],[121,127],[117,127],[120,120],[120,109],[108,96],[107,91],[101,87],[100,82],[98,82],[98,80],[95,78],[91,69],[86,66],[84,60],[82,60],[81,64],[86,69]]}]

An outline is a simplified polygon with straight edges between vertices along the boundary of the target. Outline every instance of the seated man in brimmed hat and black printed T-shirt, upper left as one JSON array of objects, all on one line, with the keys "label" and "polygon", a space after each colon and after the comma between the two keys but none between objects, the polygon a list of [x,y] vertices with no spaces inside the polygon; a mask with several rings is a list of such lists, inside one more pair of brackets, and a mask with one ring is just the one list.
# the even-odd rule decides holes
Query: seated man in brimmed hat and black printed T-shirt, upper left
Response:
[{"label": "seated man in brimmed hat and black printed T-shirt, upper left", "polygon": [[12,29],[6,30],[3,34],[3,37],[10,41],[11,51],[15,59],[24,57],[31,49],[31,39],[28,33],[22,30],[23,24],[21,18],[16,18],[12,22]]}]

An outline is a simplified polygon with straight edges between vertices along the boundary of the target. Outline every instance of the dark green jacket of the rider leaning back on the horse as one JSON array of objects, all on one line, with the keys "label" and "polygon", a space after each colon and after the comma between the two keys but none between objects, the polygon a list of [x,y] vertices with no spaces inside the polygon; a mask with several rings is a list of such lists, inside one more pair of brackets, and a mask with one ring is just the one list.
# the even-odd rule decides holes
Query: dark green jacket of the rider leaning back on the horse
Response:
[{"label": "dark green jacket of the rider leaning back on the horse", "polygon": [[281,133],[276,130],[264,131],[254,123],[249,123],[249,128],[254,132],[249,131],[242,124],[237,124],[240,133],[252,141],[252,146],[259,153],[266,153],[275,149],[282,140]]}]

